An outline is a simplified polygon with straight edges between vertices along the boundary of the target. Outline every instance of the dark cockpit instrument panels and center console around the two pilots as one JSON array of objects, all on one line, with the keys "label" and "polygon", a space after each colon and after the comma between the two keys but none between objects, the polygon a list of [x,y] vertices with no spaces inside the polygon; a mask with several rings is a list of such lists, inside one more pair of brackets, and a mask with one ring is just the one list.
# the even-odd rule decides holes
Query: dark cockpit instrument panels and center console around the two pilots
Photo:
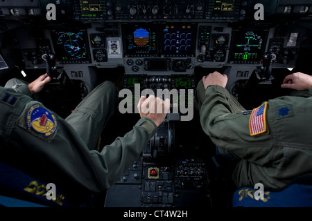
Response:
[{"label": "dark cockpit instrument panels and center console around the two pilots", "polygon": [[[109,122],[102,147],[135,125],[142,90],[177,90],[141,155],[96,195],[98,207],[234,206],[237,189],[214,157],[194,100],[183,93],[196,96],[200,79],[218,71],[227,75],[229,93],[252,110],[288,93],[280,86],[286,75],[312,74],[311,49],[309,0],[0,0],[0,86],[48,73],[52,80],[38,96],[63,118],[104,81],[135,94],[128,112]],[[174,111],[181,103],[187,110]],[[37,187],[34,203],[42,204]],[[52,203],[61,206],[62,199]]]}]

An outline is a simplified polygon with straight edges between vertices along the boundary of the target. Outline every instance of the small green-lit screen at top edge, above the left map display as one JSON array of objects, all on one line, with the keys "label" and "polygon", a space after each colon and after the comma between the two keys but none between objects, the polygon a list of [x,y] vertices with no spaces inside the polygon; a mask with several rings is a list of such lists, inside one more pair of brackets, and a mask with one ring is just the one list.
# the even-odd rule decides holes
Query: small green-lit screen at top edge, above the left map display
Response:
[{"label": "small green-lit screen at top edge, above the left map display", "polygon": [[101,18],[103,17],[102,1],[79,0],[81,17]]}]

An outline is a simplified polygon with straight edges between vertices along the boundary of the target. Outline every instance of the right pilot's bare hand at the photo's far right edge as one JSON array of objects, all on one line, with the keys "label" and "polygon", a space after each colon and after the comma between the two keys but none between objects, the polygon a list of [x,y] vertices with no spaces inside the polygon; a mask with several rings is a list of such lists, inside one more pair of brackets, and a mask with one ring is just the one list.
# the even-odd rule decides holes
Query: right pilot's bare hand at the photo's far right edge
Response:
[{"label": "right pilot's bare hand at the photo's far right edge", "polygon": [[312,86],[312,76],[304,73],[293,73],[287,75],[281,84],[282,88],[291,88],[295,90],[309,90]]}]

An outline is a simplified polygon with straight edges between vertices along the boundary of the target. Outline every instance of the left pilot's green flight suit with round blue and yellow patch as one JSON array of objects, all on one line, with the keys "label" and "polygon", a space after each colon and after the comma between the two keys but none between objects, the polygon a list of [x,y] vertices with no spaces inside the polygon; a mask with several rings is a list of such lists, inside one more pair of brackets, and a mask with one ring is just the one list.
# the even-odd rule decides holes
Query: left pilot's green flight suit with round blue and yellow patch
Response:
[{"label": "left pilot's green flight suit with round blue and yellow patch", "polygon": [[24,86],[0,87],[0,160],[56,187],[77,184],[93,192],[109,189],[157,132],[155,123],[143,117],[124,137],[98,152],[98,137],[118,102],[112,82],[96,87],[67,119],[17,88]]}]

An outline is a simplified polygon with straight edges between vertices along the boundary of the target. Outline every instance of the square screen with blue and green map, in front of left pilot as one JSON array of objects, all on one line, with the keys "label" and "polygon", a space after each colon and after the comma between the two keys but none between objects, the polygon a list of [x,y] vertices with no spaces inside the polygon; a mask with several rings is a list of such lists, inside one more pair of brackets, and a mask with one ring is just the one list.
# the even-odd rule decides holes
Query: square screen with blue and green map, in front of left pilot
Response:
[{"label": "square screen with blue and green map, in front of left pilot", "polygon": [[52,30],[55,56],[61,63],[89,63],[86,30]]}]

